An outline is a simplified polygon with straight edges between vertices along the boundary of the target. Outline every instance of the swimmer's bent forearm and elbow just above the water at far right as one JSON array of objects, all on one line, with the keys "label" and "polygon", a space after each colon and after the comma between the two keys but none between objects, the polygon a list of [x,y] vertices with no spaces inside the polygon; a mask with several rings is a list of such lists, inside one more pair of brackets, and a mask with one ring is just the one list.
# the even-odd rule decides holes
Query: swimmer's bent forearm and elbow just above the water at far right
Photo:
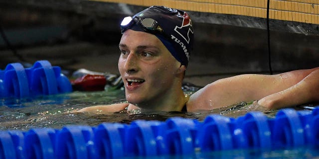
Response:
[{"label": "swimmer's bent forearm and elbow just above the water at far right", "polygon": [[279,109],[319,101],[319,68],[297,84],[263,97],[258,104],[269,109]]}]

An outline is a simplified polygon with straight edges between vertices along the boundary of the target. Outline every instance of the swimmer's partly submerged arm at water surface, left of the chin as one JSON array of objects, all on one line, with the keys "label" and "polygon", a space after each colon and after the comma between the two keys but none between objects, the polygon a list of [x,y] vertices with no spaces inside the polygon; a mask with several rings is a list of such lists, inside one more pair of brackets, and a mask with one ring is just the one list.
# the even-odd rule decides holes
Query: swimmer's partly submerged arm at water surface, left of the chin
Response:
[{"label": "swimmer's partly submerged arm at water surface, left of the chin", "polygon": [[83,109],[78,110],[77,112],[118,112],[124,110],[126,107],[129,106],[129,103],[117,103],[111,105],[96,105],[85,107]]}]

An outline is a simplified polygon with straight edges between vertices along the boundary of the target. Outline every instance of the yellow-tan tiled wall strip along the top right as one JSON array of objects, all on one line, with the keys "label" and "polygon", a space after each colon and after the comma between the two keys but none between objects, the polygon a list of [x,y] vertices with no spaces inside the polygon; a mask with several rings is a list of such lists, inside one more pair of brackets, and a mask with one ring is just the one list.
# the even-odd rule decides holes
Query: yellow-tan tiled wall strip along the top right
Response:
[{"label": "yellow-tan tiled wall strip along the top right", "polygon": [[[95,0],[266,18],[267,0]],[[270,0],[269,18],[319,24],[319,0]]]}]

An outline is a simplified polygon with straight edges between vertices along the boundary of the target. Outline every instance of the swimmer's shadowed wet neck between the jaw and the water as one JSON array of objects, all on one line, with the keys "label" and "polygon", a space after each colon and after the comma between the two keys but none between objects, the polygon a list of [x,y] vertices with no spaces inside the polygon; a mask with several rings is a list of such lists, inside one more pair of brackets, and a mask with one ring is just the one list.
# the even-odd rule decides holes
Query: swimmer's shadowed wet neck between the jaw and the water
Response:
[{"label": "swimmer's shadowed wet neck between the jaw and the water", "polygon": [[180,89],[180,91],[177,91],[176,94],[170,95],[165,99],[159,99],[157,101],[151,101],[149,103],[130,103],[128,106],[128,110],[142,108],[155,111],[181,111],[187,100],[188,97],[186,97],[182,89]]}]

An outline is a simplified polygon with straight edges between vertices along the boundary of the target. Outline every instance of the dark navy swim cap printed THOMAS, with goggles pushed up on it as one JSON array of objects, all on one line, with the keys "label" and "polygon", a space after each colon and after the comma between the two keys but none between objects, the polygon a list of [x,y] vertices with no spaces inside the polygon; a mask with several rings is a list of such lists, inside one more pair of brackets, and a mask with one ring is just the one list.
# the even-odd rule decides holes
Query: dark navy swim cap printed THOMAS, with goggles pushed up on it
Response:
[{"label": "dark navy swim cap printed THOMAS, with goggles pushed up on it", "polygon": [[154,34],[172,56],[187,67],[193,49],[194,30],[188,14],[180,9],[151,6],[121,23],[122,34],[127,30]]}]

